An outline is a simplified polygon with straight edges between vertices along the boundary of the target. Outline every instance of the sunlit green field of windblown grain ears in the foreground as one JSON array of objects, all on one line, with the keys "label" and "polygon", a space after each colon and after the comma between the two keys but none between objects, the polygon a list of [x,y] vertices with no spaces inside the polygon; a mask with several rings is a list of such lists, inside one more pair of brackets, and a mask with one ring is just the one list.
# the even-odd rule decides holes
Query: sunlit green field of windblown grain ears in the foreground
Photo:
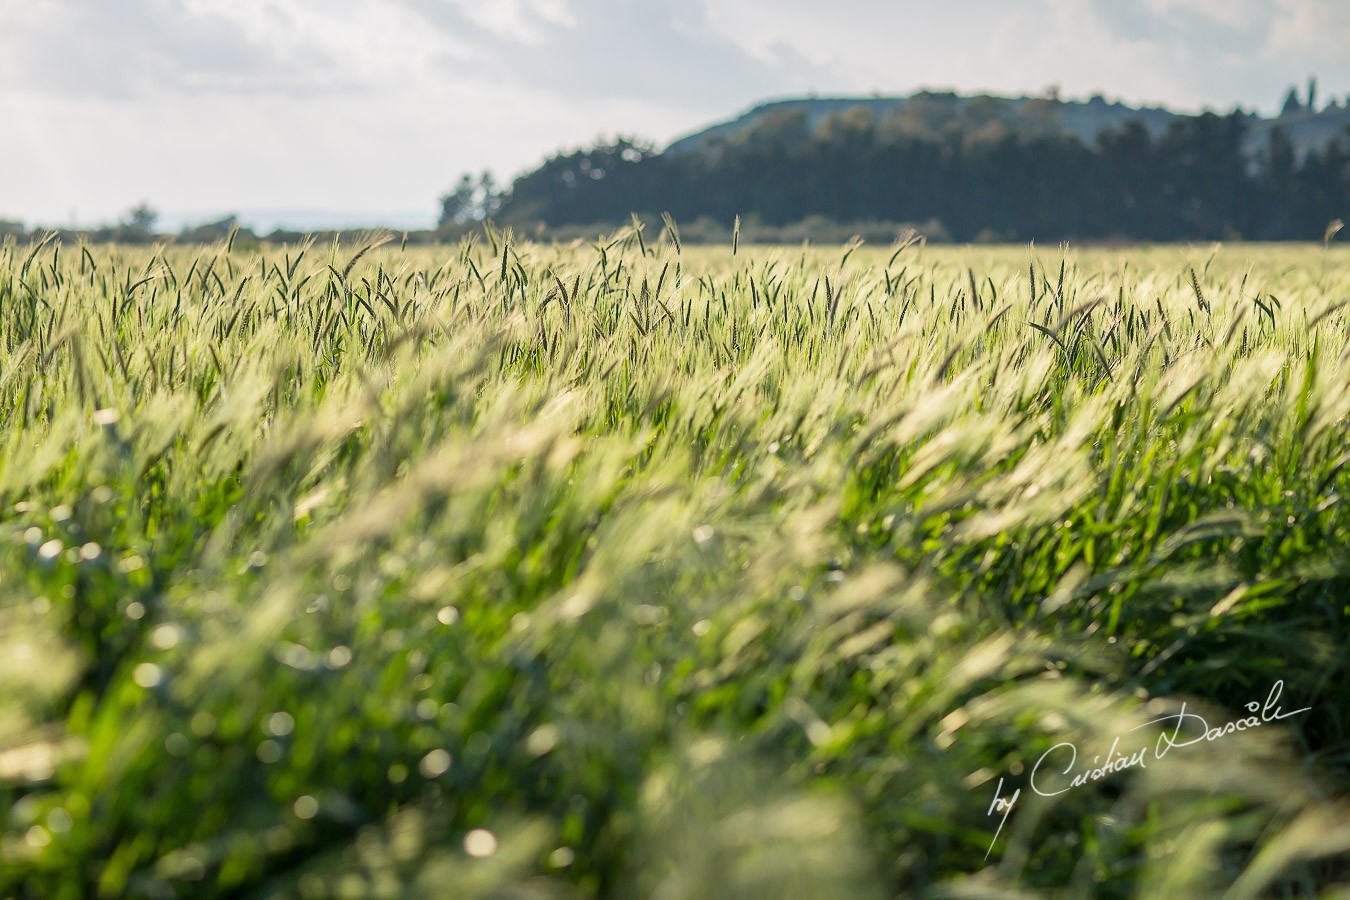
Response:
[{"label": "sunlit green field of windblown grain ears in the foreground", "polygon": [[1347,300],[1334,243],[11,242],[0,896],[1331,896]]}]

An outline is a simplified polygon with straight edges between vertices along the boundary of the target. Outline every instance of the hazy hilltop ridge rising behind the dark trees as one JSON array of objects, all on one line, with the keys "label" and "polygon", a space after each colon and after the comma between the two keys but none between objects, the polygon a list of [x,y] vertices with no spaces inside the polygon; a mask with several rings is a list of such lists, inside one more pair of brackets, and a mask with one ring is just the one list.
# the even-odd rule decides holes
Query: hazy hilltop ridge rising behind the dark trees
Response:
[{"label": "hazy hilltop ridge rising behind the dark trees", "polygon": [[[850,109],[861,109],[876,120],[900,113],[915,113],[930,127],[940,128],[945,123],[969,119],[999,121],[1013,130],[1058,131],[1071,134],[1091,144],[1103,131],[1118,130],[1130,121],[1138,121],[1157,138],[1179,119],[1196,117],[1203,113],[1184,113],[1165,107],[1130,107],[1119,101],[1108,101],[1100,94],[1091,100],[1060,100],[1057,97],[999,97],[992,94],[957,94],[949,92],[922,90],[899,97],[788,97],[771,100],[749,111],[671,142],[667,154],[680,155],[706,148],[711,143],[729,140],[753,130],[770,116],[803,115],[806,125],[818,128],[826,119]],[[1246,113],[1251,125],[1249,143],[1251,147],[1265,144],[1269,130],[1280,125],[1296,152],[1301,157],[1308,150],[1322,150],[1336,135],[1350,125],[1350,107],[1330,105],[1319,111],[1300,108],[1280,116]]]}]

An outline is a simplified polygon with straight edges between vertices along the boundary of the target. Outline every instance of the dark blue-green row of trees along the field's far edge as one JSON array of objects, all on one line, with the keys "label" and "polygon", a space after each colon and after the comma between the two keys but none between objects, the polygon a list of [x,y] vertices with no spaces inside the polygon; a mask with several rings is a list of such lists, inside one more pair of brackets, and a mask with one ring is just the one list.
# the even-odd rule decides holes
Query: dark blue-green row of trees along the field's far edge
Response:
[{"label": "dark blue-green row of trees along the field's far edge", "polygon": [[[1046,101],[1049,103],[1049,101]],[[1297,148],[1253,116],[1139,121],[1085,142],[1049,116],[925,117],[863,108],[811,127],[775,111],[697,151],[656,152],[620,138],[560,152],[497,189],[464,177],[441,225],[491,217],[518,228],[618,225],[633,213],[686,223],[741,216],[929,223],[953,240],[1311,240],[1350,217],[1350,130]]]}]

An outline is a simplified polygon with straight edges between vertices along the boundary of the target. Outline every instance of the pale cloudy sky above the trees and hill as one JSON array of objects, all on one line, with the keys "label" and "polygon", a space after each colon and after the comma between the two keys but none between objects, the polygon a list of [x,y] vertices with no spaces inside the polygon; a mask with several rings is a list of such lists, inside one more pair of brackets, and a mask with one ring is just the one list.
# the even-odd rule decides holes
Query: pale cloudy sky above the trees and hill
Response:
[{"label": "pale cloudy sky above the trees and hill", "polygon": [[431,225],[613,135],[922,88],[1274,112],[1350,0],[0,0],[0,219]]}]

